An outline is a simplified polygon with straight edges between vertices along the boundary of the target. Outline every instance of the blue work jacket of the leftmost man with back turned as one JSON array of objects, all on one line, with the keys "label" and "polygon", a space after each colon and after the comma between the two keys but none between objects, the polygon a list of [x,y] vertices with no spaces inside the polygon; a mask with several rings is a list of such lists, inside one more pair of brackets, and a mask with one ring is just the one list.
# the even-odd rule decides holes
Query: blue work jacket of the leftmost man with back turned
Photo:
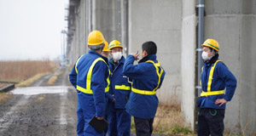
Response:
[{"label": "blue work jacket of the leftmost man with back turned", "polygon": [[[108,59],[103,57],[101,54],[97,54],[95,51],[89,51],[88,54],[84,54],[80,57],[77,65],[78,73],[73,66],[72,71],[69,74],[69,81],[73,84],[75,88],[77,85],[82,88],[86,88],[86,79],[87,73],[89,71],[90,65],[97,58],[101,57],[108,64]],[[79,102],[82,103],[81,106],[86,112],[96,113],[95,116],[105,116],[106,108],[106,96],[105,88],[108,86],[107,78],[109,76],[108,65],[104,61],[100,60],[96,62],[96,65],[93,67],[91,79],[90,79],[90,88],[93,94],[85,94],[79,92],[83,95],[84,99],[79,99]]]}]

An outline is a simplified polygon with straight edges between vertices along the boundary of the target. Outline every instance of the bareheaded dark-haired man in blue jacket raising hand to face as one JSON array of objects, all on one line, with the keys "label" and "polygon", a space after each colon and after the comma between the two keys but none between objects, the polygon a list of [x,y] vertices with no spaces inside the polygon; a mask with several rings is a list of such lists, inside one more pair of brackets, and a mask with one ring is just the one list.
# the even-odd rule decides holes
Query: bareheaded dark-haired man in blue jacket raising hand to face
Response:
[{"label": "bareheaded dark-haired man in blue jacket raising hand to face", "polygon": [[132,79],[131,94],[126,111],[134,116],[137,136],[149,136],[153,132],[154,116],[158,106],[156,90],[160,88],[166,72],[156,59],[157,47],[154,42],[144,42],[142,57],[133,65],[139,54],[128,55],[124,74]]}]

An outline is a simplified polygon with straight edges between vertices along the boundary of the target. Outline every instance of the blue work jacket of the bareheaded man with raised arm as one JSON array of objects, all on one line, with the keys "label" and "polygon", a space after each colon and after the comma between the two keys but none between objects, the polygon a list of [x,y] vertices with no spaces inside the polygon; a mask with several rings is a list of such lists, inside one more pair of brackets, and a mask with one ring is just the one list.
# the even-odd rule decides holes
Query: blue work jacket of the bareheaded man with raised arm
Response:
[{"label": "blue work jacket of the bareheaded man with raised arm", "polygon": [[[144,57],[139,61],[138,65],[133,65],[134,57],[132,55],[127,56],[123,72],[127,77],[132,79],[132,88],[151,91],[157,87],[159,77],[157,76],[154,65],[150,62],[146,62],[147,60],[152,60],[154,63],[157,63],[155,54]],[[165,74],[166,72],[163,70],[158,88],[160,88]],[[131,91],[130,98],[126,105],[126,111],[131,116],[150,119],[155,116],[158,103],[159,101],[156,94],[137,94]]]}]

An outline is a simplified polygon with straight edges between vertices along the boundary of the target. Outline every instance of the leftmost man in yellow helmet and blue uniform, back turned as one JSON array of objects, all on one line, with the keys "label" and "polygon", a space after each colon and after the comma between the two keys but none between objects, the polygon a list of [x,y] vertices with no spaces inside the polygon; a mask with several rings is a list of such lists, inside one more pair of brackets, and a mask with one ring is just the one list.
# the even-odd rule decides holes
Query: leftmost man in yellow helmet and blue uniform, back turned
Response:
[{"label": "leftmost man in yellow helmet and blue uniform, back turned", "polygon": [[106,92],[109,88],[108,59],[102,56],[104,37],[101,31],[91,31],[88,36],[88,54],[81,55],[69,74],[69,80],[77,89],[79,136],[102,136],[90,126],[93,116],[102,120],[105,116]]}]

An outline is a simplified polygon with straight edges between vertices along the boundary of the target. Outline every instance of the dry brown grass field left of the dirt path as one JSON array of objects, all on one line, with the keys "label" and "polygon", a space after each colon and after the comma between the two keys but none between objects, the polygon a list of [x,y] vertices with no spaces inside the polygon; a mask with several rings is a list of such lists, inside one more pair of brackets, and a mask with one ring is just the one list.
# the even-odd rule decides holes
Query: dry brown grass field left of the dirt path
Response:
[{"label": "dry brown grass field left of the dirt path", "polygon": [[[38,61],[0,61],[0,81],[20,82],[15,86],[26,87],[46,73],[55,71],[58,65],[49,60]],[[0,88],[9,83],[0,83]],[[0,93],[0,103],[11,98],[13,94]]]}]

